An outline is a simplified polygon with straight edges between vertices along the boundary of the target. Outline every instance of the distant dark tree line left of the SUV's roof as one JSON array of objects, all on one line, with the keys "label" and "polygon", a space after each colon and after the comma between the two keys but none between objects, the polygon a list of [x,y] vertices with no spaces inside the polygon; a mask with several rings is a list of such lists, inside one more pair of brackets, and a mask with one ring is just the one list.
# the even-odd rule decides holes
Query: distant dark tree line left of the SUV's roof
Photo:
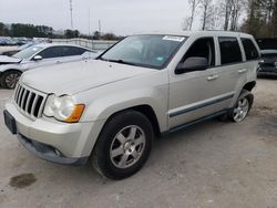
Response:
[{"label": "distant dark tree line left of the SUV's roof", "polygon": [[49,39],[72,39],[85,38],[93,40],[119,40],[113,33],[100,33],[95,31],[92,35],[82,34],[79,30],[66,29],[64,31],[55,31],[52,27],[48,25],[33,25],[12,23],[4,24],[0,22],[0,37],[25,37],[25,38],[49,38]]}]

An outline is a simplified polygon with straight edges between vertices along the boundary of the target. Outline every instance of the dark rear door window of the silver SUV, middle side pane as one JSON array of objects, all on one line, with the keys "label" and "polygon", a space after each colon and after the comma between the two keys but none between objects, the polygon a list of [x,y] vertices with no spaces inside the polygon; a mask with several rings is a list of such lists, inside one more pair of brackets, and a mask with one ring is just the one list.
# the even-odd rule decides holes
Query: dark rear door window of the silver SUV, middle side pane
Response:
[{"label": "dark rear door window of the silver SUV, middle side pane", "polygon": [[236,38],[218,38],[222,64],[237,63],[243,61],[242,51]]}]

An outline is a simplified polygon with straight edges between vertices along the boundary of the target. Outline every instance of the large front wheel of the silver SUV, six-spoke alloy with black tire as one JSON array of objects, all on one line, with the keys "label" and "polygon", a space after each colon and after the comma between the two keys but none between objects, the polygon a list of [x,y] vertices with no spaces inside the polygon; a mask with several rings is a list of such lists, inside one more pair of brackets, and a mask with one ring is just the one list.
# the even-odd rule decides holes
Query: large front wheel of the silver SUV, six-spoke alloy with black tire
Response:
[{"label": "large front wheel of the silver SUV, six-spoke alloy with black tire", "polygon": [[111,179],[134,175],[146,163],[153,146],[148,118],[135,111],[114,115],[104,125],[92,154],[94,168]]}]

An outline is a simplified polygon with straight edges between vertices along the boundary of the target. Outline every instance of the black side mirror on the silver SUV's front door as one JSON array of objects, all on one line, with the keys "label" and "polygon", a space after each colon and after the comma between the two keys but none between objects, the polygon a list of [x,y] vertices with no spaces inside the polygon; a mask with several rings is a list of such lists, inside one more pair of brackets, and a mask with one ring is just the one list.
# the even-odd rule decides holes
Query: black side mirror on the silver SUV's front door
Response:
[{"label": "black side mirror on the silver SUV's front door", "polygon": [[203,71],[208,67],[206,58],[187,58],[184,63],[179,63],[175,70],[175,74],[183,74],[193,71]]}]

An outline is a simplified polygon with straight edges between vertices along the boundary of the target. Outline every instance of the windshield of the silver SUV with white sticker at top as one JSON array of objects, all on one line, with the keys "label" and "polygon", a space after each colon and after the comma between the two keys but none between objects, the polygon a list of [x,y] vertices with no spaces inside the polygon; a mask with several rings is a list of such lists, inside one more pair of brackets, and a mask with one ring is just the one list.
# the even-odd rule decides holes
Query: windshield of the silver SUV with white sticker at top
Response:
[{"label": "windshield of the silver SUV with white sticker at top", "polygon": [[152,34],[129,37],[99,59],[122,64],[163,69],[185,39],[185,37]]}]

